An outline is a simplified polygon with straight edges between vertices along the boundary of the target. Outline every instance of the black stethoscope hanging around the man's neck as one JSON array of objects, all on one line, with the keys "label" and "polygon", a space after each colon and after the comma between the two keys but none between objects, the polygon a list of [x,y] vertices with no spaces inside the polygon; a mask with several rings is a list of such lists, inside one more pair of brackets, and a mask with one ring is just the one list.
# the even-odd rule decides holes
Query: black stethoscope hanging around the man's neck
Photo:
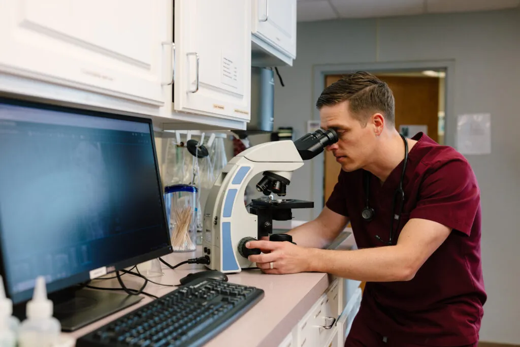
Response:
[{"label": "black stethoscope hanging around the man's neck", "polygon": [[[397,227],[396,230],[399,229],[399,223],[401,222],[401,213],[402,213],[402,207],[405,203],[405,191],[402,189],[402,181],[405,179],[405,170],[406,170],[406,164],[408,163],[408,142],[406,140],[406,137],[402,134],[399,134],[402,138],[402,141],[405,143],[405,160],[402,164],[402,172],[401,172],[401,179],[399,181],[399,186],[397,186],[395,192],[394,192],[394,199],[392,200],[392,220],[390,221],[390,237],[388,239],[388,242],[385,242],[379,235],[376,235],[375,238],[379,241],[386,243],[386,245],[393,245],[393,237],[394,237],[394,220],[397,219]],[[370,222],[375,215],[375,211],[373,208],[370,207],[368,202],[368,196],[370,192],[370,172],[363,171],[363,183],[365,185],[365,208],[363,211],[361,211],[361,217],[363,220]],[[401,201],[399,203],[399,214],[394,215],[395,211],[395,201],[397,197],[401,198]]]}]

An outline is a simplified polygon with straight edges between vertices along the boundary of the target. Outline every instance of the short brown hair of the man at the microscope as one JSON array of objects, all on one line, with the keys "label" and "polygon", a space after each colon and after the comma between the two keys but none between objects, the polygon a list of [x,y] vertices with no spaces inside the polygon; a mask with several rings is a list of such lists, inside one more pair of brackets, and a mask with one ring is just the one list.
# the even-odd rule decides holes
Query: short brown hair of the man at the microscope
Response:
[{"label": "short brown hair of the man at the microscope", "polygon": [[353,116],[366,125],[370,112],[383,113],[387,122],[395,124],[395,99],[388,85],[365,71],[349,73],[321,92],[316,107],[349,101]]}]

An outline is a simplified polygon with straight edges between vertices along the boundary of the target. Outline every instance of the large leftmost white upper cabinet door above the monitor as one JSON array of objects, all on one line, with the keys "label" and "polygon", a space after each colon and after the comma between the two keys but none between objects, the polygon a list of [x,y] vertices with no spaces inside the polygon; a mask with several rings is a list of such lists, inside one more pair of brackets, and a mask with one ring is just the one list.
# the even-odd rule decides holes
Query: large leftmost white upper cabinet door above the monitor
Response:
[{"label": "large leftmost white upper cabinet door above the monitor", "polygon": [[[0,69],[151,105],[171,80],[167,0],[2,0]],[[170,76],[168,76],[168,74]]]}]

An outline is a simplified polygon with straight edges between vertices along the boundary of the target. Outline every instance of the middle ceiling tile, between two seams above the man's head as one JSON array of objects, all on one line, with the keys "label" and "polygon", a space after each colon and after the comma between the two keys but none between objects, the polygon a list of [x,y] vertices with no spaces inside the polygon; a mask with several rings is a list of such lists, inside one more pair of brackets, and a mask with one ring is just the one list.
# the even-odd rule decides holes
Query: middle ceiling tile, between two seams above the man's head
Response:
[{"label": "middle ceiling tile, between two seams above the man's head", "polygon": [[342,18],[419,15],[425,11],[423,0],[331,0],[330,2]]}]

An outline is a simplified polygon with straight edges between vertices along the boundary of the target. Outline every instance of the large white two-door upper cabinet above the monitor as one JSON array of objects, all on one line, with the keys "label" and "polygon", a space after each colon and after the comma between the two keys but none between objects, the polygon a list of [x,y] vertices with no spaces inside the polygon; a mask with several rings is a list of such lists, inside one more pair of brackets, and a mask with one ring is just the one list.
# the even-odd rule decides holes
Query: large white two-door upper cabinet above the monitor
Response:
[{"label": "large white two-door upper cabinet above the monitor", "polygon": [[1,1],[0,94],[152,117],[156,130],[250,120],[249,1]]}]

